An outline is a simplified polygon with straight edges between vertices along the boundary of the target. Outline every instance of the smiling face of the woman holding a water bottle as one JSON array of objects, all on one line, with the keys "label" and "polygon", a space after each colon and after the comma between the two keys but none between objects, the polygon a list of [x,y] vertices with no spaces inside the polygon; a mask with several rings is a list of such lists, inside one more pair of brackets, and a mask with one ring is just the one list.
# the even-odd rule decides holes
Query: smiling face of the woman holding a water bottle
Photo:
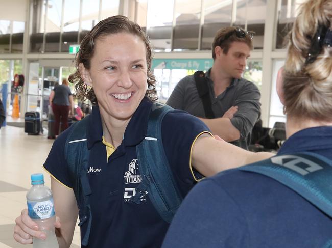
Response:
[{"label": "smiling face of the woman holding a water bottle", "polygon": [[[91,68],[83,71],[105,118],[128,120],[147,90],[147,59],[143,40],[128,33],[96,40]],[[107,115],[107,116],[105,116]]]}]

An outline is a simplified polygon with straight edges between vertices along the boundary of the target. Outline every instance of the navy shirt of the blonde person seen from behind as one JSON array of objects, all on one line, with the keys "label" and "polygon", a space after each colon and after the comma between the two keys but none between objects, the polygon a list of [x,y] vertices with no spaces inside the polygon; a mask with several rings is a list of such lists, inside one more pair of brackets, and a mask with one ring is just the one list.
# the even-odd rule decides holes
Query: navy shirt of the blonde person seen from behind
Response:
[{"label": "navy shirt of the blonde person seen from behind", "polygon": [[[278,155],[303,151],[332,160],[332,126],[294,133]],[[189,192],[162,248],[328,248],[331,244],[330,217],[295,191],[258,173],[228,170],[202,180]]]}]

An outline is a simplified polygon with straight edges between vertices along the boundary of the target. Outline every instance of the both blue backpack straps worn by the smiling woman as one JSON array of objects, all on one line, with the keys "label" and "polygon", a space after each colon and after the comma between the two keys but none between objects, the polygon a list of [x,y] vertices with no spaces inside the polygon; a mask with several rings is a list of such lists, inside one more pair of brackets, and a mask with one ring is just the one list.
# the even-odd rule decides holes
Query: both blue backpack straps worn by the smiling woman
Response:
[{"label": "both blue backpack straps worn by the smiling woman", "polygon": [[[170,106],[158,102],[152,104],[147,136],[136,146],[141,182],[135,188],[135,195],[130,199],[130,201],[140,204],[140,197],[146,195],[148,191],[152,204],[164,221],[168,223],[171,222],[182,202],[182,196],[174,180],[161,139],[162,119],[172,110],[173,108]],[[90,116],[87,116],[73,124],[65,145],[68,171],[73,182],[77,205],[81,212],[78,225],[81,226],[87,222],[82,245],[88,244],[92,222],[89,201],[92,190],[87,177],[89,150],[86,144],[86,128],[89,118]]]}]

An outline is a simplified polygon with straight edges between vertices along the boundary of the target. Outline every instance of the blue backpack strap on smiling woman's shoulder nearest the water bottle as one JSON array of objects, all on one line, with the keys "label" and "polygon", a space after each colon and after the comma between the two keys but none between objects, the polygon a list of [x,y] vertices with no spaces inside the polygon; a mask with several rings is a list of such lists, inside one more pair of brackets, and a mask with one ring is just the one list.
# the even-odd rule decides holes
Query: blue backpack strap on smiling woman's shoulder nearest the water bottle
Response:
[{"label": "blue backpack strap on smiling woman's shoulder nearest the water bottle", "polygon": [[82,245],[88,244],[92,215],[89,202],[91,188],[87,178],[89,150],[87,149],[86,127],[89,115],[81,121],[73,124],[65,144],[65,157],[67,159],[70,180],[73,182],[73,190],[77,205],[82,213],[79,226],[87,221],[87,228],[82,239]]}]

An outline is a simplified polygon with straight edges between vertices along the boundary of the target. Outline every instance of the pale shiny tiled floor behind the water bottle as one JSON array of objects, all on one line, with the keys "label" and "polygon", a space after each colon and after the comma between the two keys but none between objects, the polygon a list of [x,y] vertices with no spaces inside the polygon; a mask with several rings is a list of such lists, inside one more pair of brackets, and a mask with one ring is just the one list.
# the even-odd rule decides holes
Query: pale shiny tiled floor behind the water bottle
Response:
[{"label": "pale shiny tiled floor behind the water bottle", "polygon": [[[44,135],[28,135],[24,128],[6,126],[0,129],[0,248],[32,247],[13,239],[15,218],[27,208],[26,194],[30,188],[30,175],[42,172],[45,184],[51,187],[50,176],[42,169],[53,140]],[[73,244],[80,247],[79,227]]]}]

